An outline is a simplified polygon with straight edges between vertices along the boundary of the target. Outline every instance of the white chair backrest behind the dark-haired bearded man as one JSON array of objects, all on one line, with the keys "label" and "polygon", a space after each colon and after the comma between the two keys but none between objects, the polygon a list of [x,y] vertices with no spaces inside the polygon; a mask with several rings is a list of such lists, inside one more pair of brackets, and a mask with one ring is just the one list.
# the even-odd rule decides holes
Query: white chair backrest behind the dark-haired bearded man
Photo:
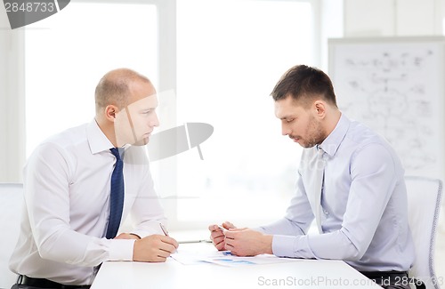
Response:
[{"label": "white chair backrest behind the dark-haired bearded man", "polygon": [[440,289],[434,270],[434,240],[441,209],[442,181],[425,177],[405,177],[408,192],[409,228],[416,260],[409,277],[421,279],[426,288]]}]

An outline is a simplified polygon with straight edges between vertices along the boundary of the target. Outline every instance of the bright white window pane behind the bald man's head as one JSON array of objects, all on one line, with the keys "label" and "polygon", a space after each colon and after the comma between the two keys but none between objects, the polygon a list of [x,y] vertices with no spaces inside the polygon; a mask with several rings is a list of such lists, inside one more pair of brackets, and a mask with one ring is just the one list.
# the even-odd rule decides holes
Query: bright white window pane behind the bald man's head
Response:
[{"label": "bright white window pane behind the bald man's head", "polygon": [[114,68],[158,83],[157,8],[153,4],[71,2],[26,28],[27,157],[48,136],[94,116],[94,89]]}]

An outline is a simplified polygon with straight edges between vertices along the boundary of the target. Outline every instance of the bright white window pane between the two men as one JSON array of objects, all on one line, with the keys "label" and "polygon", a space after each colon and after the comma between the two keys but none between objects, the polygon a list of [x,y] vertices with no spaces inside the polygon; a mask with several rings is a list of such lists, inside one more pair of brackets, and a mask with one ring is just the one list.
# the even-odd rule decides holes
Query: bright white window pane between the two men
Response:
[{"label": "bright white window pane between the two men", "polygon": [[287,68],[313,65],[312,6],[188,0],[177,16],[178,120],[214,126],[204,161],[197,149],[177,156],[178,221],[274,220],[302,149],[281,135],[269,95]]}]

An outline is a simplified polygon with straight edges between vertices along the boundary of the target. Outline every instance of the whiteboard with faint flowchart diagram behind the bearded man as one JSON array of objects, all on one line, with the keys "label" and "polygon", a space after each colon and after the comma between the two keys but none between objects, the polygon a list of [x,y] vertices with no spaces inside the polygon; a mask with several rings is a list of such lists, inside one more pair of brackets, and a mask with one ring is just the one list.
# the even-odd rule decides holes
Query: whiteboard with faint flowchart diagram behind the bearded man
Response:
[{"label": "whiteboard with faint flowchart diagram behind the bearded man", "polygon": [[384,135],[407,173],[442,166],[440,53],[437,45],[397,43],[344,45],[335,53],[339,108]]}]

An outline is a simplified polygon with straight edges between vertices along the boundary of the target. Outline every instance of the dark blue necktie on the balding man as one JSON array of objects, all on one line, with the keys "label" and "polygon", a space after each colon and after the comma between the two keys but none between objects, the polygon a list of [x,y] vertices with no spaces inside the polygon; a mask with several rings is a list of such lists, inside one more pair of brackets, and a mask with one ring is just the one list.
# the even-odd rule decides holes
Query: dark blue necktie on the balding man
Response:
[{"label": "dark blue necktie on the balding man", "polygon": [[109,193],[109,227],[107,228],[107,239],[116,237],[122,218],[124,208],[124,162],[120,157],[119,150],[109,149],[116,157],[116,165],[111,174],[111,191]]}]

